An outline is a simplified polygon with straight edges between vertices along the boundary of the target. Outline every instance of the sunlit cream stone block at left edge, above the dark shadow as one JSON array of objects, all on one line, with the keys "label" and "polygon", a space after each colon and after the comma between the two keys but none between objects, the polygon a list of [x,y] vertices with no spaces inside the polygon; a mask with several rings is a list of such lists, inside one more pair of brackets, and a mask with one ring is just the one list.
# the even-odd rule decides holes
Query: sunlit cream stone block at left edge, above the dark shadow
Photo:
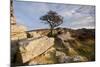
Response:
[{"label": "sunlit cream stone block at left edge, above the dark shadow", "polygon": [[26,30],[26,27],[22,25],[11,25],[11,40],[27,38]]}]

